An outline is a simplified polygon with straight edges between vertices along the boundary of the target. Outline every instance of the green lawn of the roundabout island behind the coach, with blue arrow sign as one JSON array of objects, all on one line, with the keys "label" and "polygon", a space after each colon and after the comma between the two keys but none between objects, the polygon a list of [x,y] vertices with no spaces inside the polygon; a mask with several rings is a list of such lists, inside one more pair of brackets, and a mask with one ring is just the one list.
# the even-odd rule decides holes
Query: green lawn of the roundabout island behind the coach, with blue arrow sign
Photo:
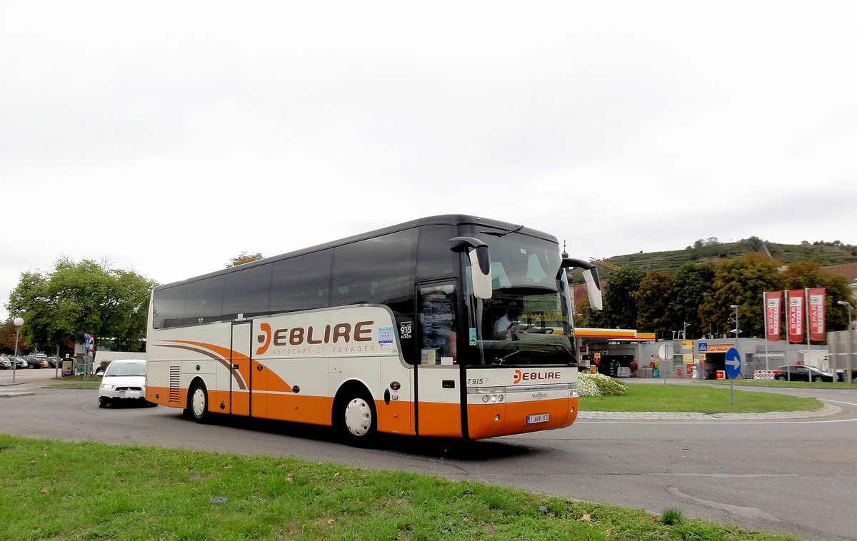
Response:
[{"label": "green lawn of the roundabout island behind the coach, with blue arrow sign", "polygon": [[814,398],[739,389],[734,390],[734,405],[730,405],[728,386],[626,384],[626,395],[581,396],[581,411],[757,413],[793,412],[824,406]]}]

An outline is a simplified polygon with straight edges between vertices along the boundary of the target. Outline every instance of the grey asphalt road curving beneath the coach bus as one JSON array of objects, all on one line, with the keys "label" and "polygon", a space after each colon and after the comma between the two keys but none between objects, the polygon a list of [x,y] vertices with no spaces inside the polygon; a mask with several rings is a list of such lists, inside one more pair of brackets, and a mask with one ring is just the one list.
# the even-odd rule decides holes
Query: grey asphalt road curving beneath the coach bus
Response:
[{"label": "grey asphalt road curving beneath the coach bus", "polygon": [[230,418],[196,425],[162,406],[99,409],[93,389],[0,387],[25,389],[33,395],[0,398],[0,431],[481,479],[652,514],[674,507],[768,532],[857,540],[857,389],[780,391],[842,407],[818,419],[580,419],[560,431],[470,443],[383,437],[376,449],[351,448],[320,427]]}]

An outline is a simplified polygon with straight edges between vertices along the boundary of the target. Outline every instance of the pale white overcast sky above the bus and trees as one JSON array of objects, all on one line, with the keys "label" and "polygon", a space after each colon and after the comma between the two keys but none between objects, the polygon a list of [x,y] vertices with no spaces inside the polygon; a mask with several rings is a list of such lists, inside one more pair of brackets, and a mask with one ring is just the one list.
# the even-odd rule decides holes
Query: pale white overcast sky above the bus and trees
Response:
[{"label": "pale white overcast sky above the bus and trees", "polygon": [[[133,5],[132,5],[133,4]],[[416,217],[857,244],[857,3],[0,0],[0,318]]]}]

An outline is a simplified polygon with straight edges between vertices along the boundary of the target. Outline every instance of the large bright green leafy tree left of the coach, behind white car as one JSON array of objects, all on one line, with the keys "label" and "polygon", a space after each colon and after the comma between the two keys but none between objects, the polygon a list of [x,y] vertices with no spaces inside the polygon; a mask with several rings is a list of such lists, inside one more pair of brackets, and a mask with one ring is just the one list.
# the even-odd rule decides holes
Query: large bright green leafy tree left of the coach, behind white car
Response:
[{"label": "large bright green leafy tree left of the coach, behind white car", "polygon": [[106,261],[59,259],[50,274],[22,272],[6,308],[24,318],[27,343],[52,351],[84,333],[139,350],[146,336],[148,300],[154,282]]}]

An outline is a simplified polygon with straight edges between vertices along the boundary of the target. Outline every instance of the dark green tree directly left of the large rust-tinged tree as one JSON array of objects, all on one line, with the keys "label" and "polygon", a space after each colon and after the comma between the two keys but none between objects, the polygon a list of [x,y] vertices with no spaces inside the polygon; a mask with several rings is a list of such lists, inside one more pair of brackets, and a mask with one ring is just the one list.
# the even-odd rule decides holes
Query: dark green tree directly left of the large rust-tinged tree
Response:
[{"label": "dark green tree directly left of the large rust-tinged tree", "polygon": [[679,267],[668,309],[674,330],[685,330],[686,336],[704,336],[707,329],[703,329],[699,306],[703,303],[704,294],[710,293],[713,282],[714,265],[710,263],[696,265],[688,262]]}]

